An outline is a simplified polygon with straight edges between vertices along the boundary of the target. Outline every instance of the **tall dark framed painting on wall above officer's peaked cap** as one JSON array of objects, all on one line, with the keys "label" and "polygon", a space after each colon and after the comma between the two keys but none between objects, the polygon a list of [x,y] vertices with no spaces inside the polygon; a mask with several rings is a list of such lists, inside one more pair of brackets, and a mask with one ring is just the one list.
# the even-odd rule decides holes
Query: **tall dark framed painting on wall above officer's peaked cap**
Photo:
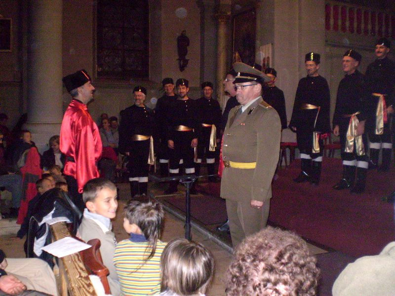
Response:
[{"label": "tall dark framed painting on wall above officer's peaked cap", "polygon": [[233,18],[234,62],[253,66],[255,62],[255,9],[239,13]]}]

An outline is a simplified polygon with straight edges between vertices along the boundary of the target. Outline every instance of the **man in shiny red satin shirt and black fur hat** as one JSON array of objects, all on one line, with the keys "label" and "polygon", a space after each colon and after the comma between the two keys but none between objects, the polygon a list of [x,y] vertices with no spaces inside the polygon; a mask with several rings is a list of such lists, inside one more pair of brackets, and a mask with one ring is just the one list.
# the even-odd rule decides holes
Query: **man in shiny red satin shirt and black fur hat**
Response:
[{"label": "man in shiny red satin shirt and black fur hat", "polygon": [[103,148],[99,129],[86,107],[93,99],[95,88],[85,70],[63,77],[63,83],[73,100],[63,116],[59,148],[67,157],[63,173],[69,192],[83,210],[82,188],[89,180],[99,177],[96,164]]}]

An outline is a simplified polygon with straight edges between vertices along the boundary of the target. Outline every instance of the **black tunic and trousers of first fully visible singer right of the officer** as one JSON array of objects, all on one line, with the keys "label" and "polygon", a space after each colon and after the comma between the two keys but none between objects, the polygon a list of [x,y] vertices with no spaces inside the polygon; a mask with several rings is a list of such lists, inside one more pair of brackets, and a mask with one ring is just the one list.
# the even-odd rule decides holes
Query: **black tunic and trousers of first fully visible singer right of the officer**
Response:
[{"label": "black tunic and trousers of first fully visible singer right of the officer", "polygon": [[[318,109],[303,109],[304,104],[320,107],[319,112]],[[289,126],[297,129],[296,137],[301,153],[309,154],[312,158],[317,157],[317,154],[312,155],[313,132],[318,131],[321,134],[330,132],[329,111],[330,95],[326,79],[320,75],[300,79]],[[319,155],[322,155],[322,141],[319,141],[319,146]]]}]

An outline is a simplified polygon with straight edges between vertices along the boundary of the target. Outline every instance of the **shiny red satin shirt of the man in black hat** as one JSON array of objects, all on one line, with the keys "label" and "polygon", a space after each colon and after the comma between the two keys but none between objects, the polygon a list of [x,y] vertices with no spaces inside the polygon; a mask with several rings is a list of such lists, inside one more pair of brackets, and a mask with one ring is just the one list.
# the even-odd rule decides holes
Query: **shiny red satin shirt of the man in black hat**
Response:
[{"label": "shiny red satin shirt of the man in black hat", "polygon": [[78,191],[86,182],[99,177],[96,163],[102,154],[99,129],[85,104],[72,100],[60,129],[60,150],[75,161],[66,161],[63,173],[77,180]]}]

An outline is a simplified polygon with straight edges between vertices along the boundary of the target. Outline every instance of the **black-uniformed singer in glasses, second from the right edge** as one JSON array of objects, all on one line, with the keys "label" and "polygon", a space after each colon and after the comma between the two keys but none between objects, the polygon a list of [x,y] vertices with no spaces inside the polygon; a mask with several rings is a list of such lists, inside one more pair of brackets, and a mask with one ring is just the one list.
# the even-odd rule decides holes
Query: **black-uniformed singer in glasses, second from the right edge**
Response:
[{"label": "black-uniformed singer in glasses, second from the right edge", "polygon": [[[343,56],[346,74],[337,89],[336,107],[333,114],[333,133],[340,136],[343,177],[333,186],[341,190],[353,187],[351,192],[360,193],[365,188],[368,157],[365,131],[366,102],[364,75],[357,67],[362,56],[354,49]],[[357,171],[357,173],[356,173]],[[356,176],[356,180],[355,180]]]}]

